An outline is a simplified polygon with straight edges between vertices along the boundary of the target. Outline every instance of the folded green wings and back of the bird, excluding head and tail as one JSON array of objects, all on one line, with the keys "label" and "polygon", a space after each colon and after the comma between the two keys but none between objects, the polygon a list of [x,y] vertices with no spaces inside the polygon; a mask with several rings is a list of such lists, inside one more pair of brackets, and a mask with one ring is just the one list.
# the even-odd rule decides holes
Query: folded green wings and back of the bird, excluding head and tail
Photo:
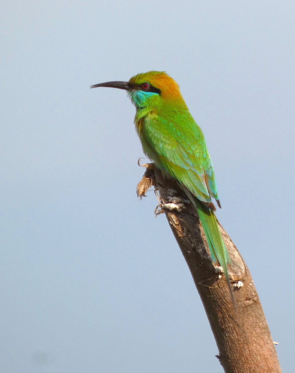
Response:
[{"label": "folded green wings and back of the bird, excluding head and tail", "polygon": [[[177,122],[146,117],[140,134],[143,150],[156,166],[165,169],[195,197],[215,209],[216,182],[203,133],[188,114]],[[220,206],[220,205],[219,205]]]}]

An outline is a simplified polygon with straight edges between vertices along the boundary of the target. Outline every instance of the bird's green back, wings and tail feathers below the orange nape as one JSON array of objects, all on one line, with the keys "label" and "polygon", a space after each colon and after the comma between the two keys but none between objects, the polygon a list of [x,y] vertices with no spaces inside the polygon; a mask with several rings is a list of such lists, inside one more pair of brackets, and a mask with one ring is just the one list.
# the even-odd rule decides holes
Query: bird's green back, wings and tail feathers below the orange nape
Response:
[{"label": "bird's green back, wings and tail feathers below the orange nape", "polygon": [[212,261],[220,264],[228,278],[229,257],[211,201],[211,197],[218,201],[216,182],[200,127],[188,109],[172,110],[172,114],[168,109],[164,115],[147,114],[142,121],[138,133],[143,151],[160,170],[168,172],[184,187],[198,211]]}]

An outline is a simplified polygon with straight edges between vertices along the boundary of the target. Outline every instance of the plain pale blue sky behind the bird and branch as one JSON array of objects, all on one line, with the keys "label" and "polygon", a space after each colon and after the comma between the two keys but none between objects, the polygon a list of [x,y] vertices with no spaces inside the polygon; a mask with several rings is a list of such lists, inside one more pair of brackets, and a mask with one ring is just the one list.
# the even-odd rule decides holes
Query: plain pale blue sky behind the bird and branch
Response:
[{"label": "plain pale blue sky behind the bird and branch", "polygon": [[121,90],[165,70],[294,371],[293,1],[1,5],[1,372],[223,372]]}]

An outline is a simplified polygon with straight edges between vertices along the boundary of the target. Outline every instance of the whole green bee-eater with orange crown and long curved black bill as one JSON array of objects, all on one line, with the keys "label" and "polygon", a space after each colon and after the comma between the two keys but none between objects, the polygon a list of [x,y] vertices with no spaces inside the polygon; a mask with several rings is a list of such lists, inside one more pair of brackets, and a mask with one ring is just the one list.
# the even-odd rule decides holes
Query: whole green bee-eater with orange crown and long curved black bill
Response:
[{"label": "whole green bee-eater with orange crown and long curved black bill", "polygon": [[[92,85],[126,90],[136,107],[135,126],[144,153],[171,175],[196,206],[212,261],[221,266],[235,306],[228,275],[230,258],[219,232],[212,199],[220,208],[211,159],[178,84],[165,72],[149,71],[128,82]],[[236,308],[236,307],[235,307]]]}]

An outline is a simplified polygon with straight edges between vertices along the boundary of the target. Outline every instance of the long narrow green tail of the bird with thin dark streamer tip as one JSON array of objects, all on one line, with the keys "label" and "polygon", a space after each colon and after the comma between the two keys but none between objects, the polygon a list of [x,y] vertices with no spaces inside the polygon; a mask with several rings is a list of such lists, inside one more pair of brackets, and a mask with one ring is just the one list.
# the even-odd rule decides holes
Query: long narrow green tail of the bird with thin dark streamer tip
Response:
[{"label": "long narrow green tail of the bird with thin dark streamer tip", "polygon": [[232,303],[237,314],[237,306],[235,304],[234,294],[232,292],[227,267],[228,264],[231,264],[231,259],[222,240],[216,216],[212,210],[204,206],[204,204],[200,202],[197,198],[194,200],[194,202],[208,242],[212,261],[215,264],[218,263],[222,267],[223,273],[225,275],[225,280],[228,285],[229,292],[231,294]]}]

